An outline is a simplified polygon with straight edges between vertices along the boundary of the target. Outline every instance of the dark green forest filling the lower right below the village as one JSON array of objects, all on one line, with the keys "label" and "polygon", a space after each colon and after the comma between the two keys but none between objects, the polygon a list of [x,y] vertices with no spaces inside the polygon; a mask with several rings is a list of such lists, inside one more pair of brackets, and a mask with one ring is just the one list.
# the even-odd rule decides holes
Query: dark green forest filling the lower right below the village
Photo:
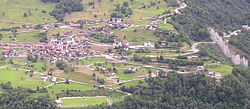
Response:
[{"label": "dark green forest filling the lower right below the village", "polygon": [[249,70],[239,66],[221,82],[205,74],[169,73],[167,77],[147,79],[148,86],[126,89],[133,95],[123,102],[94,108],[247,109],[250,106],[249,81]]}]

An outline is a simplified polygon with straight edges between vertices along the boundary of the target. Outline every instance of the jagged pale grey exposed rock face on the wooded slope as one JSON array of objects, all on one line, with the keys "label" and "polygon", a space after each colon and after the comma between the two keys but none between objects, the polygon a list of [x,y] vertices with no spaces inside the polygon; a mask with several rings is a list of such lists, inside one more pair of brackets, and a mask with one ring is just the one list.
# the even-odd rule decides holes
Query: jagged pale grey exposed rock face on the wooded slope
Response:
[{"label": "jagged pale grey exposed rock face on the wooded slope", "polygon": [[220,37],[219,34],[213,28],[209,28],[209,31],[210,31],[210,37],[213,40],[213,42],[219,45],[219,47],[227,57],[231,57],[232,62],[234,64],[248,67],[248,60],[245,57],[241,58],[239,54],[235,55],[232,52],[230,52],[228,41],[223,41],[222,37]]}]

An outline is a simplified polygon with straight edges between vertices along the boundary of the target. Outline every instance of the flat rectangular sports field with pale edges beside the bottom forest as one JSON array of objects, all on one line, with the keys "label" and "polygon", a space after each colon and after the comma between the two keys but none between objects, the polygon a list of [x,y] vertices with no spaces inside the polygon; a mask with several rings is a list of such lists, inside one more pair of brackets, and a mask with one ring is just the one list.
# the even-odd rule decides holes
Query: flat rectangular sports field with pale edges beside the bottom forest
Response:
[{"label": "flat rectangular sports field with pale edges beside the bottom forest", "polygon": [[108,103],[107,97],[62,99],[62,106],[97,105],[102,103]]}]

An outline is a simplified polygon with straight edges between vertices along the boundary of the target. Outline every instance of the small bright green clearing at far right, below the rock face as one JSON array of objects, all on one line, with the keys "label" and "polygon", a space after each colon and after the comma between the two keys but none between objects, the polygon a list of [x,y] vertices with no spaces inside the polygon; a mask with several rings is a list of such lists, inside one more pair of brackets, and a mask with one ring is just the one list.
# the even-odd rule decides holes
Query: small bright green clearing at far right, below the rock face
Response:
[{"label": "small bright green clearing at far right, below the rock face", "polygon": [[233,67],[229,65],[218,65],[218,66],[207,66],[206,67],[208,71],[214,71],[214,72],[219,72],[223,76],[229,75],[232,73]]}]

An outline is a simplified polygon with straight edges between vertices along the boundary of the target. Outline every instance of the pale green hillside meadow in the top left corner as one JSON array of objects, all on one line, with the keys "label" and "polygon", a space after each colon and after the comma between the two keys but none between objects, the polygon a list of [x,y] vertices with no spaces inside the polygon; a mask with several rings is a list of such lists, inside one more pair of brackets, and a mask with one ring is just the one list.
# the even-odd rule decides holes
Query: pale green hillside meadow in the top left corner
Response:
[{"label": "pale green hillside meadow in the top left corner", "polygon": [[[41,0],[1,0],[0,19],[28,23],[54,22],[55,19],[49,15],[54,8],[54,3],[43,3]],[[43,10],[46,13],[42,13]],[[24,13],[28,17],[24,17]]]}]

